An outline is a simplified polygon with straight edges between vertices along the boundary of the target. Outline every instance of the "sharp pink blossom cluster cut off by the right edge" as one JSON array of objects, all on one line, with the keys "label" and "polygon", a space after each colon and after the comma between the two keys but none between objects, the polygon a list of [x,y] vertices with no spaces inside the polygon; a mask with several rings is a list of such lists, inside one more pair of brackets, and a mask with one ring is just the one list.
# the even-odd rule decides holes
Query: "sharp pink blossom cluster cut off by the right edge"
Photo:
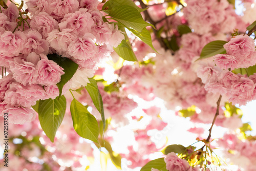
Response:
[{"label": "sharp pink blossom cluster cut off by the right edge", "polygon": [[[209,92],[225,95],[233,104],[244,105],[254,100],[255,75],[241,75],[232,72],[254,66],[256,52],[254,40],[249,36],[238,35],[224,45],[227,54],[215,55],[214,62],[204,63],[198,68],[197,75],[205,83]],[[216,66],[215,66],[216,65]]]}]

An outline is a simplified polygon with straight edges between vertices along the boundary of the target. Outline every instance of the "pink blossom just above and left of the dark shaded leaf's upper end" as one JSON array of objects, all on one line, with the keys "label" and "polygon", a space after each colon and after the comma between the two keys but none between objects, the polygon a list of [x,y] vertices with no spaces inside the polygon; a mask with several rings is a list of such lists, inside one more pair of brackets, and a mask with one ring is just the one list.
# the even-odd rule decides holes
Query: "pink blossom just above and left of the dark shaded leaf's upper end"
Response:
[{"label": "pink blossom just above and left of the dark shaded leaf's upper end", "polygon": [[35,52],[37,54],[48,54],[49,44],[45,39],[42,39],[42,35],[39,32],[31,30],[26,34],[26,36],[27,42],[24,46],[24,54],[29,54],[31,52]]}]

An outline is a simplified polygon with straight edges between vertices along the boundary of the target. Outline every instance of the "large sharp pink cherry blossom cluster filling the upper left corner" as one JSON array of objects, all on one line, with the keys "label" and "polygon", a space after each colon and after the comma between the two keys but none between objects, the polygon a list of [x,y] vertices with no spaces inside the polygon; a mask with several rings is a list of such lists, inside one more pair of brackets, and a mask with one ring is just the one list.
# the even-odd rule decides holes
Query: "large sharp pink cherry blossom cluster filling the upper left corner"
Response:
[{"label": "large sharp pink cherry blossom cluster filling the upper left corner", "polygon": [[117,25],[103,21],[98,4],[97,0],[31,0],[25,12],[13,3],[7,9],[1,6],[0,115],[9,113],[15,124],[30,122],[35,118],[31,106],[37,100],[58,96],[56,83],[65,73],[48,54],[57,53],[79,65],[62,94],[86,86],[96,64],[124,38]]}]

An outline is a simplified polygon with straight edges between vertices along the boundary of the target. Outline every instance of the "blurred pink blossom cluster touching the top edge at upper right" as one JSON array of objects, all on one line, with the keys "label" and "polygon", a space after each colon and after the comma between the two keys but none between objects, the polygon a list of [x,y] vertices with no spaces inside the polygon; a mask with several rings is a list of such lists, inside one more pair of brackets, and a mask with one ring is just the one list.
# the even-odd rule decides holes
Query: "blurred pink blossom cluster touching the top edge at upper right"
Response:
[{"label": "blurred pink blossom cluster touching the top edge at upper right", "polygon": [[184,16],[195,33],[229,33],[234,28],[244,31],[246,25],[242,17],[233,10],[226,0],[186,0]]}]

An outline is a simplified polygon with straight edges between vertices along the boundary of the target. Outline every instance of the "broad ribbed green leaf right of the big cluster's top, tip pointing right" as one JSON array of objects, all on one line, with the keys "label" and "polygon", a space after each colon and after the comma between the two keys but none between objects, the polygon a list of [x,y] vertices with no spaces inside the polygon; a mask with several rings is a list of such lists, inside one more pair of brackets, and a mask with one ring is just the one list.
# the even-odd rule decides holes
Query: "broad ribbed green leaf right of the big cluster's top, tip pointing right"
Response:
[{"label": "broad ribbed green leaf right of the big cluster's top, tip pointing right", "polygon": [[152,24],[146,23],[143,20],[140,12],[131,6],[122,5],[114,7],[110,11],[109,15],[117,22],[123,24],[126,28],[134,29],[138,32],[142,32],[142,30],[147,26],[154,27]]}]

